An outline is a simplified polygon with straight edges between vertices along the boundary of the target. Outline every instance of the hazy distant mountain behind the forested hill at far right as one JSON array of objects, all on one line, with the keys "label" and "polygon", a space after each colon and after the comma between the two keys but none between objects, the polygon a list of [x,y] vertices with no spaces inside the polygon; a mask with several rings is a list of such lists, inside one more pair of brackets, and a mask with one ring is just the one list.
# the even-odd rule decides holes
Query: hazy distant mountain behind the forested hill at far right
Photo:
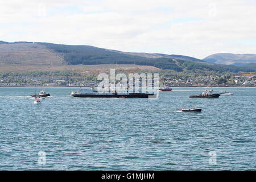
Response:
[{"label": "hazy distant mountain behind the forested hill at far right", "polygon": [[208,63],[244,66],[249,63],[256,63],[256,54],[216,53],[205,57],[203,60]]}]

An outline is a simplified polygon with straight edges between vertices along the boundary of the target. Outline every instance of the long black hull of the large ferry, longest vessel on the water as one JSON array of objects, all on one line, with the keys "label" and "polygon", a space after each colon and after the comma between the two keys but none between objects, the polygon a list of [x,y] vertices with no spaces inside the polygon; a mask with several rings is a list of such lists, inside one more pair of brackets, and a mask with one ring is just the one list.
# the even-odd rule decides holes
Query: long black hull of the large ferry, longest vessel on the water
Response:
[{"label": "long black hull of the large ferry, longest vessel on the water", "polygon": [[92,97],[92,98],[148,98],[148,96],[154,96],[154,94],[72,94],[73,97]]}]

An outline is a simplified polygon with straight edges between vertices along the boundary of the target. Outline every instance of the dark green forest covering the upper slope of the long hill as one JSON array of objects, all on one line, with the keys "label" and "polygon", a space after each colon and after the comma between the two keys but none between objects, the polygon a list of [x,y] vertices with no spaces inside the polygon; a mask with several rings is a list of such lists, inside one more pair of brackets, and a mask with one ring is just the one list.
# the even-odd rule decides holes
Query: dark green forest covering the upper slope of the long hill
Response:
[{"label": "dark green forest covering the upper slope of the long hill", "polygon": [[[256,69],[236,67],[233,65],[209,64],[203,60],[199,60],[189,56],[181,55],[159,55],[159,58],[148,58],[143,56],[135,56],[123,53],[120,51],[112,51],[109,49],[97,48],[92,46],[68,46],[60,44],[40,43],[47,48],[52,49],[57,53],[64,53],[64,60],[67,64],[138,64],[152,65],[161,69],[173,69],[181,72],[192,69],[203,69],[204,71],[219,71],[219,72],[252,72]],[[137,53],[138,55],[138,53]],[[168,56],[170,58],[168,58]],[[153,57],[153,56],[152,56]],[[171,58],[172,57],[172,58]]]}]

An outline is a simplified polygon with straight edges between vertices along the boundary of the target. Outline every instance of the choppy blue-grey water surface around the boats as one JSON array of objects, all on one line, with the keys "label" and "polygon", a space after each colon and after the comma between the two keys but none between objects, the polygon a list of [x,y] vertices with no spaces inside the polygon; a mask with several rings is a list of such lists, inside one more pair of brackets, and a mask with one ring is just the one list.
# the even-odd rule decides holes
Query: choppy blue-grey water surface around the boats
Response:
[{"label": "choppy blue-grey water surface around the boats", "polygon": [[[1,170],[256,169],[256,88],[213,88],[234,92],[215,99],[174,88],[158,100],[72,98],[77,89],[46,88],[34,105],[34,88],[0,88]],[[178,111],[191,105],[202,112]]]}]

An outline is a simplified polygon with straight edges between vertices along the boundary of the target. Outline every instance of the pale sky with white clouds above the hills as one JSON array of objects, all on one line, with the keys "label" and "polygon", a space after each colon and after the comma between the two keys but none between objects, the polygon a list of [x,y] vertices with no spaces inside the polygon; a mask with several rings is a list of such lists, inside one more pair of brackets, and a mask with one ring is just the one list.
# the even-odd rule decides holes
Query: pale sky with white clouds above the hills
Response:
[{"label": "pale sky with white clouds above the hills", "polygon": [[0,40],[199,59],[256,53],[256,0],[0,1]]}]

